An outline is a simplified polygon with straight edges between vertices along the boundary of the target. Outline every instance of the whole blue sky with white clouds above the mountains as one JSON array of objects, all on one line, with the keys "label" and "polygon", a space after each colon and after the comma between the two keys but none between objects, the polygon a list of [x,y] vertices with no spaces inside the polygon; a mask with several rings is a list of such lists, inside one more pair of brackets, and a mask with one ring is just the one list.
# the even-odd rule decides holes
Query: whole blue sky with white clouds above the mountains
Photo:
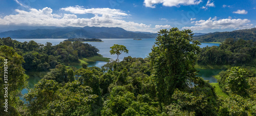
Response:
[{"label": "whole blue sky with white clouds above the mountains", "polygon": [[255,0],[0,0],[1,25],[105,26],[157,33],[178,27],[211,33],[256,27]]}]

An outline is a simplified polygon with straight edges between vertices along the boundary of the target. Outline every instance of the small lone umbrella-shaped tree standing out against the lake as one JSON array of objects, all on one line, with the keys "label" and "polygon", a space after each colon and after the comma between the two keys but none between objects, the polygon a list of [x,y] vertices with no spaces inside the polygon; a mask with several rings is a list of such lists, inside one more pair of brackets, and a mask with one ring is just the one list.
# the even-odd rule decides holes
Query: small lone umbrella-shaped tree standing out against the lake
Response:
[{"label": "small lone umbrella-shaped tree standing out against the lake", "polygon": [[117,59],[116,59],[116,62],[118,60],[118,56],[124,52],[124,53],[128,53],[129,50],[126,49],[125,46],[123,45],[118,45],[118,44],[114,44],[112,47],[110,47],[111,50],[110,50],[110,54],[113,55],[113,54],[117,54]]}]

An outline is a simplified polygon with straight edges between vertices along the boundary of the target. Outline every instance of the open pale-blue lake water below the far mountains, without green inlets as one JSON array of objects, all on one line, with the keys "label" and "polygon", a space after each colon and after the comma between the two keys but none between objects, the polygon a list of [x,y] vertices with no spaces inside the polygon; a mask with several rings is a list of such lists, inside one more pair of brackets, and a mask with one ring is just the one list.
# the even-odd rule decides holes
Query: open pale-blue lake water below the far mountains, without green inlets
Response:
[{"label": "open pale-blue lake water below the far mountains, without green inlets", "polygon": [[[57,45],[66,39],[15,39],[15,40],[19,42],[25,42],[25,41],[29,42],[33,40],[41,44],[46,44],[46,42],[50,42],[53,45]],[[110,57],[111,59],[116,59],[117,55],[110,54],[110,50],[111,50],[110,47],[113,46],[114,44],[124,45],[129,50],[129,53],[128,54],[122,53],[121,55],[119,55],[120,61],[123,59],[123,57],[126,57],[126,56],[142,57],[142,58],[147,57],[148,53],[151,52],[152,46],[156,42],[154,38],[142,39],[142,40],[133,40],[133,39],[101,39],[101,40],[103,42],[84,42],[84,43],[89,43],[92,46],[95,46],[96,48],[99,49],[99,54],[103,55],[104,57]],[[199,46],[206,47],[206,46],[214,46],[214,45],[219,46],[218,43],[201,43],[201,45]],[[95,66],[96,65],[100,66],[100,64],[102,65],[103,63],[97,62]]]}]

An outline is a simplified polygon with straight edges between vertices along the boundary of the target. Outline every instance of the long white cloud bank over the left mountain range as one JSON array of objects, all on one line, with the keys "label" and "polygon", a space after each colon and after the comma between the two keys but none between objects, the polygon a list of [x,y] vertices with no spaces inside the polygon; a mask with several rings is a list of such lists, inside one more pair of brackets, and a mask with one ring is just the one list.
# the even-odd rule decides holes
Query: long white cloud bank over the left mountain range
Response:
[{"label": "long white cloud bank over the left mountain range", "polygon": [[[102,8],[104,9],[104,8]],[[133,21],[125,21],[120,19],[121,16],[127,16],[116,9],[106,8],[109,12],[104,11],[99,13],[99,10],[89,10],[87,13],[94,14],[91,18],[79,18],[75,14],[53,14],[51,8],[44,9],[29,9],[29,11],[15,10],[17,14],[7,15],[0,18],[0,24],[2,25],[30,25],[30,26],[105,26],[105,27],[122,27],[127,31],[140,31],[140,32],[154,32],[151,25],[143,23],[136,23]],[[75,12],[75,11],[74,11]],[[84,11],[82,11],[84,12]]]}]

